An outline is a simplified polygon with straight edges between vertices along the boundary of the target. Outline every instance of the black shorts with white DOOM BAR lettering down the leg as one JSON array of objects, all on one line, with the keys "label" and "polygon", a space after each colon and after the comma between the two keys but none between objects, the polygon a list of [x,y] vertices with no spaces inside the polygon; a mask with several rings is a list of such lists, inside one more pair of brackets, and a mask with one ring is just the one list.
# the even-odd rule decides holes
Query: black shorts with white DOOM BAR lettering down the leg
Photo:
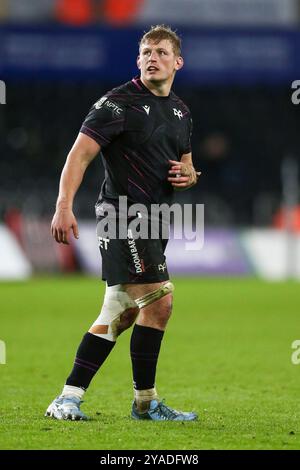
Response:
[{"label": "black shorts with white DOOM BAR lettering down the leg", "polygon": [[[101,221],[97,218],[97,222]],[[164,255],[166,238],[109,238],[97,229],[102,256],[102,279],[108,286],[116,284],[146,284],[169,279]]]}]

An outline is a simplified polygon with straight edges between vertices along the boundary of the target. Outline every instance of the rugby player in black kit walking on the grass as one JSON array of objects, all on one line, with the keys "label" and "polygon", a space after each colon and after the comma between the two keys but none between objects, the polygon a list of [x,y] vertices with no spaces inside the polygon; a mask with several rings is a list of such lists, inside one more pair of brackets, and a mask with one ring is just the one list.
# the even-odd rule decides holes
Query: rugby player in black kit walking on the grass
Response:
[{"label": "rugby player in black kit walking on the grass", "polygon": [[[128,205],[170,203],[174,190],[192,187],[200,173],[191,154],[192,120],[188,107],[171,91],[183,67],[181,40],[168,26],[153,26],[139,43],[140,75],[108,91],[91,108],[62,171],[51,232],[57,243],[78,238],[72,206],[91,161],[101,151],[105,180],[96,204],[98,223],[110,207],[119,214],[119,196]],[[134,324],[130,354],[133,419],[192,421],[194,412],[177,411],[160,400],[156,366],[172,309],[163,237],[98,237],[106,292],[100,315],[77,350],[73,369],[46,416],[85,420],[82,397],[114,348]],[[71,320],[70,320],[71,321]]]}]

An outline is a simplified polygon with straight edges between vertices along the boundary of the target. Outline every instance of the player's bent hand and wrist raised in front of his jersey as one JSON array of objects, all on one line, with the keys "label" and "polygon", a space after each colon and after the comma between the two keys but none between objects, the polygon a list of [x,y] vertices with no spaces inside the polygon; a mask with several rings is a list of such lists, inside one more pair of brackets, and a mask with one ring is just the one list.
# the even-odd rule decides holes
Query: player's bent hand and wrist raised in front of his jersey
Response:
[{"label": "player's bent hand and wrist raised in front of his jersey", "polygon": [[176,191],[185,191],[197,183],[201,172],[195,170],[191,152],[183,154],[180,162],[169,160],[169,163],[168,181]]}]

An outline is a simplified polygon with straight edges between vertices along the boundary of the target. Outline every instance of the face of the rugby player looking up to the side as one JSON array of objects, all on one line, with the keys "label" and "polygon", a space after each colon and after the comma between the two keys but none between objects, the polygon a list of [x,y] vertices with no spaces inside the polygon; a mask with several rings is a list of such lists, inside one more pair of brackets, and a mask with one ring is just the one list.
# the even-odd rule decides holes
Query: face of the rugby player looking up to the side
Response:
[{"label": "face of the rugby player looking up to the side", "polygon": [[172,43],[164,39],[159,43],[144,42],[137,59],[141,77],[149,82],[173,80],[176,70],[183,66],[182,57],[174,54]]}]

